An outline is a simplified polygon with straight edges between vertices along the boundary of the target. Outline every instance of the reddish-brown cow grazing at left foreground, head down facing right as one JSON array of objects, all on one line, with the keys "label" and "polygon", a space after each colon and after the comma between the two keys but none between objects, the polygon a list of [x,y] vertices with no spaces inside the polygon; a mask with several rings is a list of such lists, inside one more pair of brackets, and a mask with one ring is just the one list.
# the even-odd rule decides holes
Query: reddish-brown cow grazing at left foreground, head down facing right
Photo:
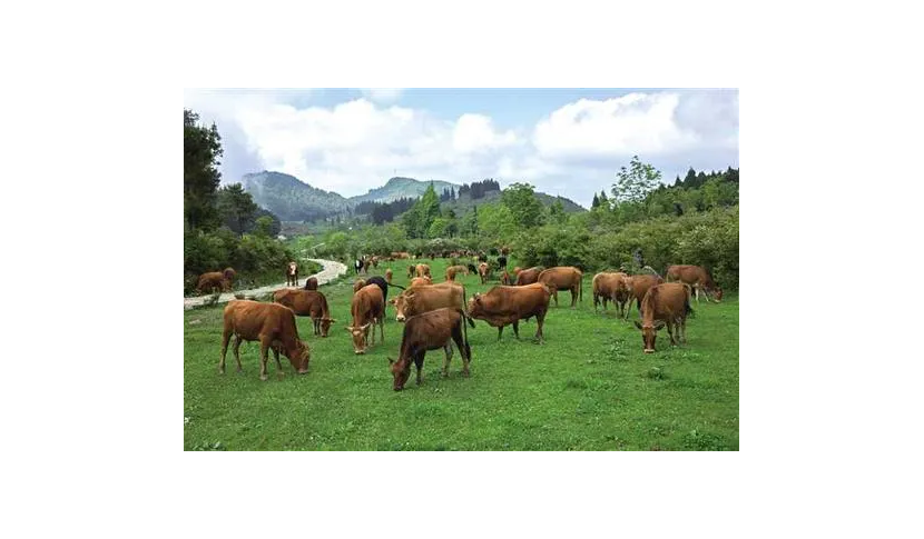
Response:
[{"label": "reddish-brown cow grazing at left foreground, head down facing right", "polygon": [[276,303],[261,303],[249,300],[232,300],[225,307],[225,329],[222,333],[222,361],[218,362],[218,372],[225,373],[225,357],[228,351],[228,341],[234,335],[234,359],[237,360],[237,372],[240,368],[240,342],[259,341],[259,379],[266,380],[267,352],[273,349],[276,359],[276,369],[283,373],[279,363],[279,351],[292,362],[292,368],[299,375],[308,371],[311,351],[308,346],[298,338],[298,327],[295,325],[295,312],[287,307]]}]

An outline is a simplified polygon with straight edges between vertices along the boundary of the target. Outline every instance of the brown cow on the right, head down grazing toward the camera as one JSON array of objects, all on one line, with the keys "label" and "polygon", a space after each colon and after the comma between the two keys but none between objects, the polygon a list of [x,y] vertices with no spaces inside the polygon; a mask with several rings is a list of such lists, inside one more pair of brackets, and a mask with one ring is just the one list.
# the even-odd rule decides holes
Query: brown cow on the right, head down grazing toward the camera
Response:
[{"label": "brown cow on the right, head down grazing toward the camera", "polygon": [[636,327],[641,330],[642,349],[645,353],[655,351],[655,339],[658,330],[667,325],[667,332],[670,335],[670,343],[677,345],[674,338],[674,329],[677,328],[677,336],[682,343],[687,343],[687,316],[692,313],[690,309],[690,286],[682,282],[665,282],[648,289],[645,299],[641,300],[641,323],[633,320]]}]

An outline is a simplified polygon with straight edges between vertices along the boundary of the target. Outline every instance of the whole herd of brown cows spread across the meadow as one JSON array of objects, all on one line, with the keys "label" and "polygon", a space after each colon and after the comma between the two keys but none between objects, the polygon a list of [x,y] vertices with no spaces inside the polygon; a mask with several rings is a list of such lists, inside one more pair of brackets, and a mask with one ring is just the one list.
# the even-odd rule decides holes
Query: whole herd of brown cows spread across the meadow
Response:
[{"label": "whole herd of brown cows spread across the meadow", "polygon": [[[377,267],[380,261],[407,259],[410,253],[396,252],[391,257],[368,257],[355,261],[356,273],[367,273],[370,264]],[[346,326],[355,355],[364,355],[375,346],[375,330],[379,329],[380,346],[384,345],[384,325],[389,308],[394,309],[395,320],[404,325],[397,359],[389,358],[393,376],[393,389],[402,390],[411,375],[411,363],[416,367],[416,383],[422,382],[421,369],[429,350],[442,348],[445,352],[443,376],[449,375],[449,363],[453,356],[452,345],[462,357],[462,375],[470,373],[469,365],[472,351],[465,326],[475,327],[474,320],[482,320],[498,328],[498,340],[507,326],[513,327],[513,335],[520,338],[520,322],[535,318],[535,340],[544,342],[543,325],[549,312],[550,301],[554,299],[558,307],[558,293],[571,292],[571,308],[583,301],[583,272],[574,267],[554,268],[514,268],[508,273],[507,252],[503,258],[486,263],[486,258],[475,258],[479,266],[453,264],[445,270],[443,282],[433,282],[430,266],[411,264],[407,268],[410,285],[405,287],[392,283],[392,269],[385,277],[370,276],[357,279],[353,287],[350,305],[351,320]],[[492,278],[491,269],[500,269],[499,280],[502,285],[484,293],[468,297],[465,286],[455,280],[459,275],[478,273],[482,283]],[[650,269],[650,268],[649,268]],[[591,291],[593,309],[600,303],[607,310],[611,301],[620,318],[629,318],[632,303],[636,305],[640,320],[635,326],[641,331],[643,351],[655,351],[657,332],[667,328],[671,345],[686,343],[687,318],[692,313],[690,299],[700,293],[706,300],[721,300],[718,288],[708,271],[698,266],[669,266],[666,278],[651,270],[651,273],[628,275],[626,272],[601,272],[593,276]],[[225,289],[234,277],[230,268],[224,272],[206,273],[200,282],[206,287]],[[297,266],[286,268],[287,285],[297,286]],[[205,280],[205,281],[203,281]],[[389,299],[389,289],[399,288],[401,292]],[[466,300],[468,298],[468,300]],[[273,302],[233,300],[224,310],[224,332],[222,339],[222,359],[218,371],[225,372],[225,357],[228,342],[234,336],[234,355],[237,370],[240,371],[239,347],[242,341],[258,341],[261,345],[261,379],[266,380],[268,352],[273,351],[276,367],[282,372],[279,353],[286,356],[297,372],[307,372],[311,353],[308,346],[298,337],[296,316],[312,319],[314,335],[328,337],[331,326],[336,322],[331,318],[327,299],[317,290],[317,280],[309,278],[304,288],[285,288],[273,295]]]}]

